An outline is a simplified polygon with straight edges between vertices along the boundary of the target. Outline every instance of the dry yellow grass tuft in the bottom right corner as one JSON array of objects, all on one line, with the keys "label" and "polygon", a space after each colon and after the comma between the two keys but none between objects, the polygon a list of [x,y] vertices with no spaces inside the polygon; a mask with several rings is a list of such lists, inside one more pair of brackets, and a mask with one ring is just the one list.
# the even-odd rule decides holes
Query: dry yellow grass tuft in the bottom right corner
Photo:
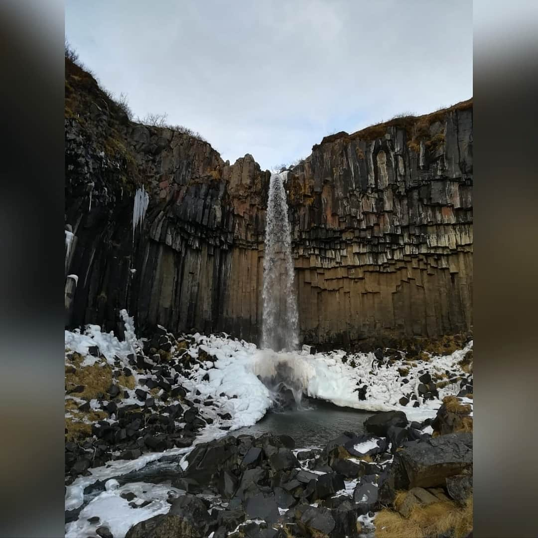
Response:
[{"label": "dry yellow grass tuft in the bottom right corner", "polygon": [[472,530],[472,497],[464,508],[453,501],[414,506],[407,518],[385,508],[377,513],[374,525],[376,538],[435,538],[449,530],[455,538],[463,538]]}]

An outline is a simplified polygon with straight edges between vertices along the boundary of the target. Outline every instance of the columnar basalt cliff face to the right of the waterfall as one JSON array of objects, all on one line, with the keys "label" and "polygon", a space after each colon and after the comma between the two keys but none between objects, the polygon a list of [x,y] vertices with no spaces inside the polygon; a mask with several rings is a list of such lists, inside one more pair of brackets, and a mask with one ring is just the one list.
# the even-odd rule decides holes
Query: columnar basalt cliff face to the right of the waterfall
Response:
[{"label": "columnar basalt cliff face to the right of the waterfall", "polygon": [[472,108],[395,123],[327,137],[291,175],[308,341],[472,326]]}]

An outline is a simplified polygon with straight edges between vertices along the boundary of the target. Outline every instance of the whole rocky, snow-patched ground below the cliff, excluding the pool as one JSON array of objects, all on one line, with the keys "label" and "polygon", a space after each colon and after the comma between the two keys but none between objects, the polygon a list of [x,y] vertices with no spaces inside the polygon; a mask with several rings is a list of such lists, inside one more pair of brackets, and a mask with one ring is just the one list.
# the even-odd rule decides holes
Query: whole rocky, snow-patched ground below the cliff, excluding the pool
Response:
[{"label": "whole rocky, snow-patched ground below the cliff, excluding the pool", "polygon": [[305,449],[289,435],[232,433],[275,401],[256,373],[256,346],[175,338],[162,327],[137,339],[126,313],[124,321],[123,341],[96,325],[66,332],[67,536],[383,538],[472,528],[472,342],[447,356],[287,357],[306,376],[305,394],[390,408],[329,443],[313,435],[315,448]]}]

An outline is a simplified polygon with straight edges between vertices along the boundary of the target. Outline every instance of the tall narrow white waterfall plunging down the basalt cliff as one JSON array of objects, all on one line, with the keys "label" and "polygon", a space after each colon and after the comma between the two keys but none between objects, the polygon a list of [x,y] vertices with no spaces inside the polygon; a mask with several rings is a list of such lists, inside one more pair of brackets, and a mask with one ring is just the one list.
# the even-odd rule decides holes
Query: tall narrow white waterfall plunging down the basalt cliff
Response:
[{"label": "tall narrow white waterfall plunging down the basalt cliff", "polygon": [[265,226],[261,346],[275,351],[291,351],[299,344],[286,176],[287,172],[271,174]]}]

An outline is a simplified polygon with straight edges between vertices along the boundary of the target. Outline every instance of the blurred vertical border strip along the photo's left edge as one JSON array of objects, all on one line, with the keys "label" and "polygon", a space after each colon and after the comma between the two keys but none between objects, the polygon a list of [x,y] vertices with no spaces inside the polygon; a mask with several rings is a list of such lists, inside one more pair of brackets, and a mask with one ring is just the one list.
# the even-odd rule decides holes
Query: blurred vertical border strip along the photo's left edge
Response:
[{"label": "blurred vertical border strip along the photo's left edge", "polygon": [[3,0],[0,535],[64,534],[63,2]]}]

